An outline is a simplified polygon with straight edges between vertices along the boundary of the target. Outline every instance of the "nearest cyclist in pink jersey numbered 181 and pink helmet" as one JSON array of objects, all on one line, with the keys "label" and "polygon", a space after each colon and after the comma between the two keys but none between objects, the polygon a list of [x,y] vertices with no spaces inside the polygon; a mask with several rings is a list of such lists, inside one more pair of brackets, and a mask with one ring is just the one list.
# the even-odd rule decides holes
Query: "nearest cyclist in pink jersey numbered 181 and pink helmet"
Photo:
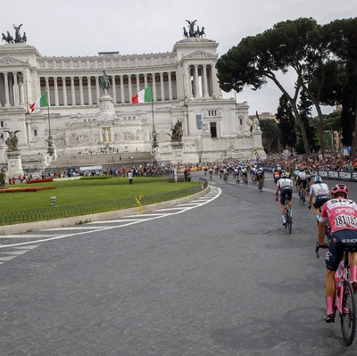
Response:
[{"label": "nearest cyclist in pink jersey numbered 181 and pink helmet", "polygon": [[[335,273],[343,259],[344,248],[357,248],[357,204],[348,199],[348,188],[337,184],[331,189],[332,199],[323,205],[318,228],[319,244],[324,246],[324,231],[328,223],[331,242],[326,253],[326,305],[327,323],[335,321]],[[357,290],[357,253],[349,253],[349,265],[353,290]]]}]

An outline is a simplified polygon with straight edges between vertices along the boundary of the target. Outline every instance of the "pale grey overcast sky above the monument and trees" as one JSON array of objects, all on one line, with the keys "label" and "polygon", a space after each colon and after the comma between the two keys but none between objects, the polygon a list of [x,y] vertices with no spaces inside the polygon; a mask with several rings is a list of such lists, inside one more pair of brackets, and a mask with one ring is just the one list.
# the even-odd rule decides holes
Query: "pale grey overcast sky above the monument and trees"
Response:
[{"label": "pale grey overcast sky above the monument and trees", "polygon": [[[150,54],[171,52],[185,20],[197,20],[221,55],[279,21],[311,17],[325,24],[356,12],[356,0],[12,0],[2,6],[0,32],[14,35],[12,24],[22,23],[28,45],[44,56]],[[268,84],[256,92],[245,88],[237,102],[248,102],[251,114],[275,113],[280,95]]]}]

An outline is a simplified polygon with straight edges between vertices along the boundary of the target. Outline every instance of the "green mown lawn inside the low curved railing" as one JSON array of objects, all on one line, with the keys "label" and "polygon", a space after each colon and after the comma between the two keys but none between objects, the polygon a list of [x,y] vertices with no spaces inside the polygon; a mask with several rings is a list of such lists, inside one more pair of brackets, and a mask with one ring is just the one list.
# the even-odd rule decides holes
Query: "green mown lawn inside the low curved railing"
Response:
[{"label": "green mown lawn inside the low curved railing", "polygon": [[197,186],[198,182],[170,183],[170,178],[128,178],[80,179],[53,181],[37,184],[17,184],[20,186],[54,186],[54,189],[37,192],[0,194],[0,211],[21,211],[51,206],[51,196],[56,197],[57,205],[71,205],[95,201],[114,200],[139,195],[153,195]]}]

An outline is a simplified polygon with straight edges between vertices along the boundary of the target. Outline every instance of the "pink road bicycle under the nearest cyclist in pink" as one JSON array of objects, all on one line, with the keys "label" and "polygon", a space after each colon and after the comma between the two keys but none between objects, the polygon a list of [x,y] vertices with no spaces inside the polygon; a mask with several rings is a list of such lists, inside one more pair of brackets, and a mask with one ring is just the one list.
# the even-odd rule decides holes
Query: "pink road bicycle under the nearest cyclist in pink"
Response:
[{"label": "pink road bicycle under the nearest cyclist in pink", "polygon": [[340,262],[335,274],[335,312],[340,316],[342,336],[346,346],[353,344],[356,332],[356,304],[354,301],[353,286],[349,280],[350,268],[348,253],[356,253],[354,248],[345,248],[345,259]]}]

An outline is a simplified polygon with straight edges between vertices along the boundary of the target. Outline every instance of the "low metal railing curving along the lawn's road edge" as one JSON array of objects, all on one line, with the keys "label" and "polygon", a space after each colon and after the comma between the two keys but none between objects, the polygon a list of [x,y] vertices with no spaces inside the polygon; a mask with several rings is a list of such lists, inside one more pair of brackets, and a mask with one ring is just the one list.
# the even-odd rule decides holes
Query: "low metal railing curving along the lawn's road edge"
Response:
[{"label": "low metal railing curving along the lawn's road edge", "polygon": [[[203,181],[204,180],[204,181]],[[188,195],[194,195],[207,187],[207,181],[200,179],[200,186],[192,186],[187,189],[174,190],[172,192],[159,193],[154,195],[143,195],[140,204],[150,205],[164,201],[179,199]],[[79,215],[95,214],[105,211],[117,211],[138,207],[136,197],[122,198],[115,200],[104,200],[99,202],[89,202],[71,205],[56,205],[46,208],[28,209],[23,211],[2,211],[0,212],[0,225],[21,224],[48,219],[62,219]]]}]

